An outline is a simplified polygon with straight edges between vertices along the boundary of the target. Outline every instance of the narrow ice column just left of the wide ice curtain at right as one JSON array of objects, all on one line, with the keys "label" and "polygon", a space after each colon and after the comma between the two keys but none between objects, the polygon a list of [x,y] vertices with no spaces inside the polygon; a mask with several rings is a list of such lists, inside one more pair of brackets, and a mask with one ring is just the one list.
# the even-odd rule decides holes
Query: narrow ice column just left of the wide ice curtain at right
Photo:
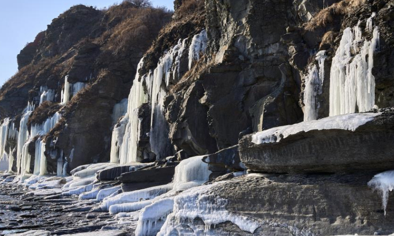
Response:
[{"label": "narrow ice column just left of the wide ice curtain at right", "polygon": [[318,118],[320,108],[318,95],[322,93],[323,89],[324,61],[327,58],[325,53],[326,51],[320,51],[316,54],[315,58],[318,61],[319,69],[315,64],[308,68],[308,74],[305,78],[305,90],[303,97],[303,102],[305,104],[304,121]]}]

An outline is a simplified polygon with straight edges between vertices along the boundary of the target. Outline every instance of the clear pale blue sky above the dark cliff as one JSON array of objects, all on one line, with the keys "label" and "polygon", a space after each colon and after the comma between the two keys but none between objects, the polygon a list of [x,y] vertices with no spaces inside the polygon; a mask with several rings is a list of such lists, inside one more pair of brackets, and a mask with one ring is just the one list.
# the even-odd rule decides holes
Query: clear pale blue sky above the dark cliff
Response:
[{"label": "clear pale blue sky above the dark cliff", "polygon": [[[121,0],[7,0],[0,7],[0,85],[18,70],[16,55],[45,30],[52,19],[73,5],[85,4],[98,8]],[[153,4],[173,9],[173,0],[152,0]]]}]

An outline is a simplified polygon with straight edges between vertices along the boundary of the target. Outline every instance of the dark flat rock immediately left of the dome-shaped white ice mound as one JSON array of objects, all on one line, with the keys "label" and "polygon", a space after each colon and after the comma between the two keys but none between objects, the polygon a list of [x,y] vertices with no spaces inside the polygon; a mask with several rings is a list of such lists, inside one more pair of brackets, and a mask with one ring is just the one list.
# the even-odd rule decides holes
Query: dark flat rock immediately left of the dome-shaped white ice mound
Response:
[{"label": "dark flat rock immediately left of the dome-shaped white ice mound", "polygon": [[122,183],[169,183],[175,173],[175,166],[155,168],[149,170],[138,170],[122,174],[118,179]]}]

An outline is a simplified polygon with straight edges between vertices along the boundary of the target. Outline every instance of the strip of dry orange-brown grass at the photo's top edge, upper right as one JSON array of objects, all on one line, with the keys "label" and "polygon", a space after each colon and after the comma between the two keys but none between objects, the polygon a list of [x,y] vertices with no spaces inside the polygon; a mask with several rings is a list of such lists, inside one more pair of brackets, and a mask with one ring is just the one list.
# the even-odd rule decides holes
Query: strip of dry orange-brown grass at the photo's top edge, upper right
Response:
[{"label": "strip of dry orange-brown grass at the photo's top edge, upper right", "polygon": [[354,12],[357,6],[365,0],[342,0],[331,6],[324,8],[305,24],[306,30],[313,30],[318,27],[325,27],[334,21],[335,17]]}]

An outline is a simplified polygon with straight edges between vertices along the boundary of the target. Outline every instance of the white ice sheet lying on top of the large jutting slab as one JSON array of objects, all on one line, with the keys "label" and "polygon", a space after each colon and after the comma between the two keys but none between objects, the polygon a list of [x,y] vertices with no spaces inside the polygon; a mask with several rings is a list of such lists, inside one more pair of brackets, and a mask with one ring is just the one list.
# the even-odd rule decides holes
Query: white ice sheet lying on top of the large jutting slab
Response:
[{"label": "white ice sheet lying on top of the large jutting slab", "polygon": [[355,131],[359,126],[373,120],[380,114],[381,113],[353,113],[279,126],[252,135],[252,142],[255,144],[275,143],[290,135],[311,130],[343,129]]}]

